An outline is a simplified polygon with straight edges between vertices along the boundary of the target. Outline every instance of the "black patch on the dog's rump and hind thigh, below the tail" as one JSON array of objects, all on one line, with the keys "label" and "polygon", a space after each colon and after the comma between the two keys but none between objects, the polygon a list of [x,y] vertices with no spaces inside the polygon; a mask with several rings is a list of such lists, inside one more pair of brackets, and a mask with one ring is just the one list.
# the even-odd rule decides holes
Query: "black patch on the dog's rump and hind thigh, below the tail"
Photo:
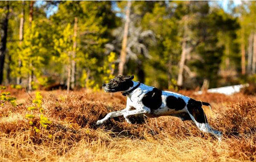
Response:
[{"label": "black patch on the dog's rump and hind thigh, below the tail", "polygon": [[197,122],[207,123],[207,118],[202,108],[202,102],[196,101],[195,99],[189,99],[187,108],[189,113],[193,115]]}]

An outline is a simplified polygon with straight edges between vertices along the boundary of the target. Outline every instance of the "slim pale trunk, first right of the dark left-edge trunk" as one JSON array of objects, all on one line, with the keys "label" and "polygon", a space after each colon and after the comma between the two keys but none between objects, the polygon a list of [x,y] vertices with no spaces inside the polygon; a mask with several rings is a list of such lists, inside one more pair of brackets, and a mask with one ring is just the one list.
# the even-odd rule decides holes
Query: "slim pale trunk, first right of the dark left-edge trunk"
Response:
[{"label": "slim pale trunk, first right of the dark left-edge trunk", "polygon": [[[19,31],[19,44],[21,46],[21,43],[23,41],[23,27],[24,27],[24,14],[25,14],[25,1],[22,1],[22,12],[21,12],[21,17],[20,17],[20,31]],[[19,58],[18,60],[18,76],[16,78],[16,83],[17,85],[20,85],[21,83],[21,78],[20,78],[20,68],[21,68],[21,60]]]}]

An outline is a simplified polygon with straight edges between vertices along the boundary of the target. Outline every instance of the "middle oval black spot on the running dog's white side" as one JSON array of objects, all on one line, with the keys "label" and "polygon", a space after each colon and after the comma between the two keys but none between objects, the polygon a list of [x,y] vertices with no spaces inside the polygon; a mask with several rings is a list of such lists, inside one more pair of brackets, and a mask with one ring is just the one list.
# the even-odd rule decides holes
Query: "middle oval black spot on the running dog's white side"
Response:
[{"label": "middle oval black spot on the running dog's white side", "polygon": [[178,111],[182,110],[186,106],[186,103],[180,97],[176,98],[174,96],[168,96],[166,98],[166,105],[168,108]]}]

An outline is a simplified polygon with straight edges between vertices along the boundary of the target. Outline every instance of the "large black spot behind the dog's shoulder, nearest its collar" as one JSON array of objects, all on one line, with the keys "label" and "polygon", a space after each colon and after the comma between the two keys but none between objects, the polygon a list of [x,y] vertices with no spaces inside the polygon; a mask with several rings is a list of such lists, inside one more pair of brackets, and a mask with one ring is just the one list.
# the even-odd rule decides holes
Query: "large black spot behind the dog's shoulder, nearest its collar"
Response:
[{"label": "large black spot behind the dog's shoulder, nearest its collar", "polygon": [[162,105],[161,95],[162,91],[157,88],[154,88],[152,91],[144,95],[142,103],[151,110],[156,110]]}]

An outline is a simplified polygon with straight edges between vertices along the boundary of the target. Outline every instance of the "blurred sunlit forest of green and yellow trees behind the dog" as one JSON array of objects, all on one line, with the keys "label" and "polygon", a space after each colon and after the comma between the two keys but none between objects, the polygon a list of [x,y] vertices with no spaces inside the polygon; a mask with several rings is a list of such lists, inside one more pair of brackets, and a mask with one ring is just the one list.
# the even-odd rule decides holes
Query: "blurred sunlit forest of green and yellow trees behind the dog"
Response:
[{"label": "blurred sunlit forest of green and yellow trees behind the dog", "polygon": [[[253,81],[256,1],[0,1],[0,84],[157,88]],[[253,77],[254,76],[254,77]]]}]

